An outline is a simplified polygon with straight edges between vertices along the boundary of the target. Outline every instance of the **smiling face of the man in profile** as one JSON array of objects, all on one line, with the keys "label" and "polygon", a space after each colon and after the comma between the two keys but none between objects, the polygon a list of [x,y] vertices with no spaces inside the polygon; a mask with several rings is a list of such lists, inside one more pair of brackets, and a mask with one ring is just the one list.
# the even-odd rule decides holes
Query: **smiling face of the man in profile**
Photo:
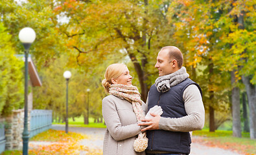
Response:
[{"label": "smiling face of the man in profile", "polygon": [[156,58],[155,67],[158,69],[159,76],[165,76],[174,72],[172,68],[172,60],[170,60],[167,50],[160,50]]}]

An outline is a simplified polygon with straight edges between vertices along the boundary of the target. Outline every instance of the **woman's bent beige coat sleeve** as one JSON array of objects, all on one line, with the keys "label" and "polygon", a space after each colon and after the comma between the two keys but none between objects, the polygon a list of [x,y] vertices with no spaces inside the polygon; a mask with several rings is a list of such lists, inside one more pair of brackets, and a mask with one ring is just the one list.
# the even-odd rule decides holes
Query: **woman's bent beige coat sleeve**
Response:
[{"label": "woman's bent beige coat sleeve", "polygon": [[126,126],[121,125],[117,108],[111,98],[102,100],[102,115],[110,135],[116,141],[134,137],[141,132],[142,127],[137,123]]}]

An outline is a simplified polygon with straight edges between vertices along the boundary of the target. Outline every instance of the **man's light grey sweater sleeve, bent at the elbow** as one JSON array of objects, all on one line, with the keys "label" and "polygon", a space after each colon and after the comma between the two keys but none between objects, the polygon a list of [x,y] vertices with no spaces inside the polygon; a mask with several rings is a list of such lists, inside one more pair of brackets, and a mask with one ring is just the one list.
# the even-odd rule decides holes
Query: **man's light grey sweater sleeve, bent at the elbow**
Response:
[{"label": "man's light grey sweater sleeve, bent at the elbow", "polygon": [[159,129],[180,132],[201,130],[204,127],[205,110],[200,90],[196,85],[189,85],[183,92],[187,116],[182,118],[160,118]]}]

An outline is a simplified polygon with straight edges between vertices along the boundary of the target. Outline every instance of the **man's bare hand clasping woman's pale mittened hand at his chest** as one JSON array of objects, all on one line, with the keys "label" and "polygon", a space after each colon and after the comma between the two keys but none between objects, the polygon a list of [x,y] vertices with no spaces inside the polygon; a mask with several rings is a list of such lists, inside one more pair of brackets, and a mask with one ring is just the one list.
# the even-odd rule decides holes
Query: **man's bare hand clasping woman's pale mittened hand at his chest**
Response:
[{"label": "man's bare hand clasping woman's pale mittened hand at his chest", "polygon": [[148,126],[145,127],[144,129],[141,129],[141,131],[145,130],[156,130],[159,129],[159,120],[160,120],[160,115],[163,114],[163,110],[161,107],[155,105],[155,107],[150,108],[148,110],[148,113],[145,116],[145,119],[142,119],[141,122],[138,125],[143,125],[143,126]]}]

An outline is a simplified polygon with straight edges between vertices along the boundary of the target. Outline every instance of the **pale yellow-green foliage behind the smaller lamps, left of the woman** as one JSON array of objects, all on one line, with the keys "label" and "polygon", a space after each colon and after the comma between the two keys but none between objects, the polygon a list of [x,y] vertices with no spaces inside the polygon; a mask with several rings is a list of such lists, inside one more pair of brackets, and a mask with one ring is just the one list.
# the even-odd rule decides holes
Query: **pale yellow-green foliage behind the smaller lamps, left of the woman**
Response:
[{"label": "pale yellow-green foliage behind the smaller lamps, left of the woman", "polygon": [[[67,64],[68,59],[69,57],[63,54],[49,67],[41,69],[40,76],[43,85],[34,88],[34,108],[52,109],[55,118],[64,118],[66,81],[63,74],[65,70],[69,70],[72,74],[68,90],[69,117],[81,115],[87,117],[87,102],[89,101],[90,117],[101,118],[101,100],[106,96],[101,86],[105,66],[86,68],[86,70],[80,66],[70,68],[70,64]],[[87,92],[88,88],[89,92]]]}]

